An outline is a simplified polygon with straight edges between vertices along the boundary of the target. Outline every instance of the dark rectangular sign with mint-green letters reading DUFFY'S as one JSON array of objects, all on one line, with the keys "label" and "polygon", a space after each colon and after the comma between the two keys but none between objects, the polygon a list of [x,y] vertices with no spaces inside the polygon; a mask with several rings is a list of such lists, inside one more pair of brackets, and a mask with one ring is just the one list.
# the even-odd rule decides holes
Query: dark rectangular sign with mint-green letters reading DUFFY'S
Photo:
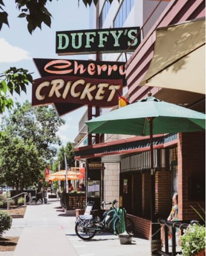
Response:
[{"label": "dark rectangular sign with mint-green letters reading DUFFY'S", "polygon": [[140,44],[140,27],[56,32],[56,53],[132,52]]}]

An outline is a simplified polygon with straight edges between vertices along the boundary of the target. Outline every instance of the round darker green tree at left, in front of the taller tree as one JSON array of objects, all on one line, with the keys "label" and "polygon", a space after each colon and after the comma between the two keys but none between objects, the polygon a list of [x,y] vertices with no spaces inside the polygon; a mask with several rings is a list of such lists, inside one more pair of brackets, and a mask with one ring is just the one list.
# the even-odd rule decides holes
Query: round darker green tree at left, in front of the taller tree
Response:
[{"label": "round darker green tree at left, in front of the taller tree", "polygon": [[0,180],[21,190],[37,183],[45,161],[40,157],[32,141],[25,144],[22,138],[9,133],[0,141]]}]

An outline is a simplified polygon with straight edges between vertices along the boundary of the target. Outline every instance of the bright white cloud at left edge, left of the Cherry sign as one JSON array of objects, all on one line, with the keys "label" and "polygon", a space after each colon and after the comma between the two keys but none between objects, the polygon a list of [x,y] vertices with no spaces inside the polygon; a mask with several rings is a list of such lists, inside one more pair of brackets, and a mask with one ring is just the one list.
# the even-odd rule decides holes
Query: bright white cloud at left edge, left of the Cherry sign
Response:
[{"label": "bright white cloud at left edge, left of the Cherry sign", "polygon": [[25,59],[31,59],[29,52],[0,38],[0,62],[18,62]]}]

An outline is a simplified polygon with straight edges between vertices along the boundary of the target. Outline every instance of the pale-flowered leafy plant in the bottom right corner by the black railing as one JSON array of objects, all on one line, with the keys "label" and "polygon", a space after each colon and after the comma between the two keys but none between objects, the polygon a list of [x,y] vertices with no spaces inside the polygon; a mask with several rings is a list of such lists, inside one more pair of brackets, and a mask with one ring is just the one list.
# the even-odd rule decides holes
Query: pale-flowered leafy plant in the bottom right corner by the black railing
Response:
[{"label": "pale-flowered leafy plant in the bottom right corner by the black railing", "polygon": [[[194,207],[191,206],[193,209]],[[201,208],[202,209],[202,208]],[[196,209],[195,212],[205,222],[204,218]],[[203,211],[203,209],[202,209]],[[193,221],[189,224],[187,229],[184,229],[184,234],[181,235],[182,254],[184,256],[204,256],[205,255],[205,225],[201,225],[198,221]]]}]

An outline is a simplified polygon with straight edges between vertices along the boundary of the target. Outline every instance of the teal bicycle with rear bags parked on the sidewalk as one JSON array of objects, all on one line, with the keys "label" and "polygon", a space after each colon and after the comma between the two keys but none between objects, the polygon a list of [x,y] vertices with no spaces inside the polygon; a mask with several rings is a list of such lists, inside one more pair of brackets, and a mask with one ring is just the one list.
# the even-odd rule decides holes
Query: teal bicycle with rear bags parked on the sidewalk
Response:
[{"label": "teal bicycle with rear bags parked on the sidewalk", "polygon": [[[89,215],[80,215],[77,218],[75,225],[75,232],[78,237],[82,240],[89,240],[93,238],[97,233],[109,231],[113,232],[115,235],[121,232],[121,215],[124,209],[117,209],[117,200],[113,202],[102,204],[112,205],[108,212],[104,212],[102,220],[100,219],[98,210],[92,210]],[[129,217],[125,217],[126,231],[129,233],[134,232],[134,224]]]}]

